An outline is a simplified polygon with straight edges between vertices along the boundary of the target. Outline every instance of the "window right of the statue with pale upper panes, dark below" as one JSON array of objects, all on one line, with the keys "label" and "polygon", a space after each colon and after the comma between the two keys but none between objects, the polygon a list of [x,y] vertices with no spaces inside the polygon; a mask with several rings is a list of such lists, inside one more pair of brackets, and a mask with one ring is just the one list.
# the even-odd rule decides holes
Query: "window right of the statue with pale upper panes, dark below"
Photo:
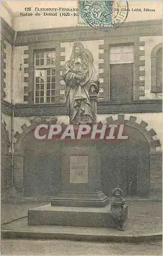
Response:
[{"label": "window right of the statue with pale upper panes, dark below", "polygon": [[110,48],[111,101],[133,100],[133,63],[132,45],[118,45]]}]

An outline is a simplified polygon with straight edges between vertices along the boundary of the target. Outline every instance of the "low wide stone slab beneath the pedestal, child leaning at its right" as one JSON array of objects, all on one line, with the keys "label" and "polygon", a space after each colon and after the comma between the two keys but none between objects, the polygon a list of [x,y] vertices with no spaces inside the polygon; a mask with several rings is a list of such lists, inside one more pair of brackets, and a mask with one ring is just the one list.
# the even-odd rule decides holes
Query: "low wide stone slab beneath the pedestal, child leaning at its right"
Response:
[{"label": "low wide stone slab beneath the pedestal, child leaning at its right", "polygon": [[[44,205],[28,211],[29,225],[66,225],[78,227],[116,227],[105,207],[59,207]],[[127,216],[127,205],[124,205]]]}]

